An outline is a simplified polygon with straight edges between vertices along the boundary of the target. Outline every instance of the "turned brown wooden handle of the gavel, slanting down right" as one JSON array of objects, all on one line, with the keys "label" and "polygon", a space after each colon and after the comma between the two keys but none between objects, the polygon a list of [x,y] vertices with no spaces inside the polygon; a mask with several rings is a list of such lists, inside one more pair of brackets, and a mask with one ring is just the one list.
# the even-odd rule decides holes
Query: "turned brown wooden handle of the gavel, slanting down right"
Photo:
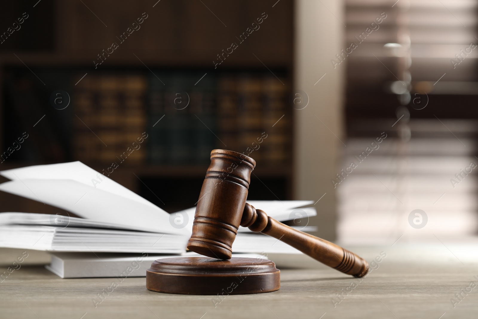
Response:
[{"label": "turned brown wooden handle of the gavel, slanting down right", "polygon": [[[246,209],[248,205],[246,204]],[[250,207],[254,209],[252,206]],[[244,213],[246,213],[246,209],[244,209]],[[345,274],[362,277],[368,273],[369,263],[355,253],[332,242],[284,225],[267,216],[261,209],[254,210],[257,211],[257,218],[251,225],[247,225],[247,223],[243,225],[249,227],[251,231],[260,231],[263,234],[277,238],[281,242],[285,242],[315,260]]]}]

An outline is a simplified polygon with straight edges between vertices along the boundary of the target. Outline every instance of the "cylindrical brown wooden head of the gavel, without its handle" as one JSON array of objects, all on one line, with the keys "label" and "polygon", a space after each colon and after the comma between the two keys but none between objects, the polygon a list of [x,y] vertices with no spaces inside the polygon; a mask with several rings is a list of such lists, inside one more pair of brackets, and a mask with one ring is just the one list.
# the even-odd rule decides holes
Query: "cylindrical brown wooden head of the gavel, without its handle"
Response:
[{"label": "cylindrical brown wooden head of the gavel, without its handle", "polygon": [[212,258],[231,258],[255,166],[256,161],[237,152],[211,152],[187,243],[189,250]]}]

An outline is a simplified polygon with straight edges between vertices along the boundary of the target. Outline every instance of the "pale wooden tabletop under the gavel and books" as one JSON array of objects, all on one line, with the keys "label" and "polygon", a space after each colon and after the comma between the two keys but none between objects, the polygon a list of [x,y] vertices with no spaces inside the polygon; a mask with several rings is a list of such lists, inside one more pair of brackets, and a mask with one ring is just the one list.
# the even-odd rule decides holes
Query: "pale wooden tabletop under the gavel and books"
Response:
[{"label": "pale wooden tabletop under the gavel and books", "polygon": [[[273,255],[279,291],[222,300],[155,293],[146,290],[144,277],[126,278],[96,308],[93,298],[115,278],[61,279],[42,265],[25,264],[0,283],[0,318],[477,318],[478,286],[461,301],[455,296],[471,281],[478,285],[477,247],[347,247],[369,262],[387,254],[362,281],[304,255]],[[5,254],[0,258],[5,264]],[[455,308],[451,298],[459,301]]]}]

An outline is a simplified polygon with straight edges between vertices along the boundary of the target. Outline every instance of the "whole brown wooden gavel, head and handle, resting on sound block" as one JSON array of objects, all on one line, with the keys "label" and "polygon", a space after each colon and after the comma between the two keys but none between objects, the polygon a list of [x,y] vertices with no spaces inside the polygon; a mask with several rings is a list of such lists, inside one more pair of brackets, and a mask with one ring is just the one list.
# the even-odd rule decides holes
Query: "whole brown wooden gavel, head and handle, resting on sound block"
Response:
[{"label": "whole brown wooden gavel, head and handle, resting on sound block", "polygon": [[246,203],[250,174],[256,162],[243,154],[213,150],[206,172],[193,232],[187,248],[202,255],[230,259],[232,243],[240,226],[277,238],[297,250],[348,275],[362,277],[369,271],[366,260],[321,238],[298,231],[268,217]]}]

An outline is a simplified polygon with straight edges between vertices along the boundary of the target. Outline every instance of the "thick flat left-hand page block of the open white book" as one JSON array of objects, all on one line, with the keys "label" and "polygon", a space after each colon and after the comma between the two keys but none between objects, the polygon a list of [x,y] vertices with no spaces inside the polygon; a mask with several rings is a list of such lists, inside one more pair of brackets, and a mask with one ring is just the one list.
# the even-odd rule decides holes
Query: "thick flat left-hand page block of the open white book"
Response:
[{"label": "thick flat left-hand page block of the open white book", "polygon": [[[54,220],[63,220],[62,222]],[[0,213],[0,246],[57,252],[183,253],[185,235],[130,231],[124,226],[57,215]],[[88,226],[87,226],[88,225]]]}]

